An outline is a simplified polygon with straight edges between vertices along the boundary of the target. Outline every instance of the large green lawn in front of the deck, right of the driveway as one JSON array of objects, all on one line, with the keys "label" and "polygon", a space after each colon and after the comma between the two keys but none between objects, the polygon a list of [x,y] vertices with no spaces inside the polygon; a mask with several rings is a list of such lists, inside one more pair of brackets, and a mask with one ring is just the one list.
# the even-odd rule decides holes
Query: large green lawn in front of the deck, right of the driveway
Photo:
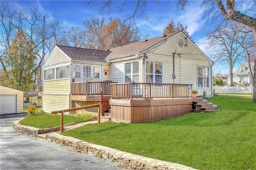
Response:
[{"label": "large green lawn in front of the deck, right of the driveway", "polygon": [[200,170],[256,169],[256,104],[252,95],[218,94],[208,102],[222,111],[153,123],[106,122],[61,134]]}]

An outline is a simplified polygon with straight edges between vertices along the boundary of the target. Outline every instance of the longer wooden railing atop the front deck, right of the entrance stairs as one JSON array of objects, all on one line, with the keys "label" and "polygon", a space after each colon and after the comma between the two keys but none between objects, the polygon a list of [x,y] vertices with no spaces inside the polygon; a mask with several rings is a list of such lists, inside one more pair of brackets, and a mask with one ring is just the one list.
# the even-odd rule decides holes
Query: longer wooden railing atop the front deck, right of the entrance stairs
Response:
[{"label": "longer wooden railing atop the front deck, right of the entrance stairs", "polygon": [[192,97],[190,84],[112,83],[110,87],[112,99]]}]

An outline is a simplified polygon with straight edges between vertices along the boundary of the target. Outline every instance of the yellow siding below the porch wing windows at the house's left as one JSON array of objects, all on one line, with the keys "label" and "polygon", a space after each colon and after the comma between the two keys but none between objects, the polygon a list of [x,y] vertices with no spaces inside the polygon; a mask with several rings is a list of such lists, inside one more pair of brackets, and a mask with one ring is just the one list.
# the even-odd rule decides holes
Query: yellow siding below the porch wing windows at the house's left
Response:
[{"label": "yellow siding below the porch wing windows at the house's left", "polygon": [[43,111],[50,113],[62,109],[69,109],[70,79],[44,81],[42,95]]}]

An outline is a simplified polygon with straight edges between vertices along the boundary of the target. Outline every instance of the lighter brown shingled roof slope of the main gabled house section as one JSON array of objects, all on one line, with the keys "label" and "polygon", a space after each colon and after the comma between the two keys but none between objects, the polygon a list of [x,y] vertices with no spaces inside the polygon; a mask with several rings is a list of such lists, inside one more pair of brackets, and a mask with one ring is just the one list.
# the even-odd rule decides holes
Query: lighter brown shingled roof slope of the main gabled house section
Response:
[{"label": "lighter brown shingled roof slope of the main gabled house section", "polygon": [[142,51],[145,51],[149,49],[150,47],[153,47],[154,45],[166,40],[167,38],[170,38],[171,36],[174,36],[180,31],[173,32],[171,34],[166,34],[166,36],[158,36],[155,38],[148,39],[146,41],[140,41],[135,43],[126,44],[120,47],[115,47],[110,49],[111,53],[106,57],[106,59],[113,59],[116,57],[122,57],[126,55],[136,54],[140,53]]}]

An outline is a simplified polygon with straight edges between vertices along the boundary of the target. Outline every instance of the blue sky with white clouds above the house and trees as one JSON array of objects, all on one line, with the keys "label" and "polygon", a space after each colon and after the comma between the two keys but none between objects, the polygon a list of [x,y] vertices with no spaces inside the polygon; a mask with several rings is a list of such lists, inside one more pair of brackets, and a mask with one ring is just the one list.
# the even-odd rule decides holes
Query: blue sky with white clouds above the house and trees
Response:
[{"label": "blue sky with white clouds above the house and trees", "polygon": [[[12,0],[9,3],[19,8],[38,8],[42,16],[48,14],[48,20],[58,20],[68,28],[72,26],[83,26],[83,21],[91,17],[104,17],[108,20],[110,16],[117,16],[120,19],[126,19],[129,14],[132,14],[135,6],[135,3],[128,2],[124,7],[124,11],[119,13],[118,7],[122,2],[113,1],[114,6],[112,6],[110,15],[105,11],[103,16],[99,13],[99,7],[102,6],[101,2],[98,2],[97,6],[94,4],[88,5],[87,2],[84,0]],[[136,16],[135,22],[140,31],[149,33],[151,38],[162,35],[162,31],[172,20],[175,24],[180,22],[183,26],[187,26],[192,40],[208,55],[209,50],[205,46],[207,45],[205,34],[214,28],[213,26],[208,26],[202,29],[206,18],[202,18],[201,2],[198,0],[189,1],[190,6],[185,11],[177,11],[174,0],[160,1],[158,4],[156,1],[148,1],[145,11],[147,19]],[[237,67],[233,71],[236,71],[236,69]],[[214,66],[213,71],[214,74],[217,72],[228,73],[228,66]]]}]

